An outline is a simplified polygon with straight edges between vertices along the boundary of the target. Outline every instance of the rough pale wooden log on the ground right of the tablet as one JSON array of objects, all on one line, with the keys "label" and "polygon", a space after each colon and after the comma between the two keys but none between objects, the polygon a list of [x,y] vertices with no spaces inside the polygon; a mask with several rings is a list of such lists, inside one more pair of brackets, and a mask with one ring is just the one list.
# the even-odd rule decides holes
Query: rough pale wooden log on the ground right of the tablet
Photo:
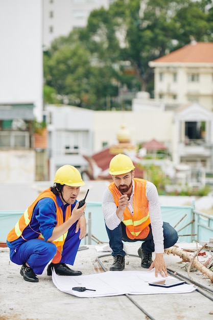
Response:
[{"label": "rough pale wooden log on the ground right of the tablet", "polygon": [[207,278],[210,279],[210,282],[213,282],[213,272],[209,269],[207,269],[200,261],[197,259],[194,259],[194,256],[191,255],[188,252],[183,251],[180,248],[177,248],[175,246],[172,246],[168,249],[164,250],[165,254],[173,254],[174,256],[179,256],[182,258],[183,262],[191,262],[192,261],[192,266],[198,269],[203,275]]}]

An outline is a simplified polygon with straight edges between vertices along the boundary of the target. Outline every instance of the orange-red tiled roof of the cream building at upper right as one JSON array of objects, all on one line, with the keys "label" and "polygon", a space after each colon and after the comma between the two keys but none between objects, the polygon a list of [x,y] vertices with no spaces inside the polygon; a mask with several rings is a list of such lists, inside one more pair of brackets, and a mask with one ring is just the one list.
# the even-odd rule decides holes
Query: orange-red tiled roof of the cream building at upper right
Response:
[{"label": "orange-red tiled roof of the cream building at upper right", "polygon": [[213,63],[213,42],[196,42],[185,45],[153,62]]}]

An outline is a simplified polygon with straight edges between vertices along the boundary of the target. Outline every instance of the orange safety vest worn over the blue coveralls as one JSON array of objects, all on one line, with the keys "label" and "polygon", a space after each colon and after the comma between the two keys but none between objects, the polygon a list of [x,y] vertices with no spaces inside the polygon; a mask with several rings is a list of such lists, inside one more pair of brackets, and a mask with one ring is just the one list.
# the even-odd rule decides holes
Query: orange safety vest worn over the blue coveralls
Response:
[{"label": "orange safety vest worn over the blue coveralls", "polygon": [[[43,198],[51,198],[55,202],[56,205],[56,220],[57,220],[57,225],[60,225],[64,222],[63,220],[63,212],[61,208],[58,206],[57,200],[56,200],[56,195],[51,191],[51,189],[46,189],[43,192],[40,193],[40,195],[36,198],[36,200],[30,205],[30,207],[27,208],[27,210],[22,214],[14,228],[9,232],[7,236],[8,241],[14,241],[18,239],[19,237],[22,237],[23,230],[30,224],[32,216],[33,216],[33,211],[34,208],[37,204],[37,202]],[[71,205],[68,205],[66,208],[65,212],[65,221],[68,220],[68,218],[71,216]],[[57,246],[57,253],[53,257],[52,262],[53,263],[58,263],[61,260],[61,254],[62,254],[62,249],[63,249],[63,244],[65,242],[66,236],[67,236],[66,231],[63,235],[61,235],[58,239],[54,240],[53,243]],[[24,238],[23,238],[24,239]],[[38,233],[38,239],[44,240],[44,237],[42,234]],[[24,239],[26,240],[26,239]],[[26,240],[27,241],[27,240]]]}]

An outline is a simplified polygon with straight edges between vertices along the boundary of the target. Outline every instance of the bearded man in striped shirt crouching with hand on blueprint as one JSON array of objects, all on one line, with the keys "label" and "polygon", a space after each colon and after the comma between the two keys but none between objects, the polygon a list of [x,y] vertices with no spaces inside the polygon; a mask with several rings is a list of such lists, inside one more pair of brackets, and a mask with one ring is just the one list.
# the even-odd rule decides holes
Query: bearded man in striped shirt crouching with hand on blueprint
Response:
[{"label": "bearded man in striped shirt crouching with hand on blueprint", "polygon": [[155,268],[156,277],[158,272],[167,277],[164,248],[174,245],[178,235],[168,222],[162,221],[155,185],[134,178],[134,168],[132,160],[125,154],[115,155],[109,165],[113,182],[103,195],[102,210],[114,257],[110,270],[122,271],[125,268],[123,241],[142,241],[138,249],[141,267]]}]

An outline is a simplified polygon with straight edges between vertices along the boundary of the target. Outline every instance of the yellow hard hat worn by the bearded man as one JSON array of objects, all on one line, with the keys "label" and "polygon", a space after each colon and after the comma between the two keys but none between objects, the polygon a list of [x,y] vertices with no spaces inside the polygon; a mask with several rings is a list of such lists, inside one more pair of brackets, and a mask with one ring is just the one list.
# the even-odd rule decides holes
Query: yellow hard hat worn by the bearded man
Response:
[{"label": "yellow hard hat worn by the bearded man", "polygon": [[120,175],[130,172],[134,169],[134,165],[128,155],[117,154],[115,155],[109,164],[109,173],[112,175]]}]

